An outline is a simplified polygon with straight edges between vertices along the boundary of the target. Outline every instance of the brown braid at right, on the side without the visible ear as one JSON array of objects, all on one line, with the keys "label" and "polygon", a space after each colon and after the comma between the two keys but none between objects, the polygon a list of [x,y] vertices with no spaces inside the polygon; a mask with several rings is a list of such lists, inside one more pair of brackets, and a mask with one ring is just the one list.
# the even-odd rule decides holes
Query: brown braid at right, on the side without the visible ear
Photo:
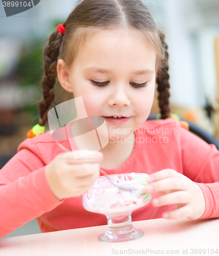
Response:
[{"label": "brown braid at right, on the side without the visible ear", "polygon": [[159,100],[159,107],[160,107],[160,114],[161,114],[161,119],[165,119],[167,117],[170,117],[170,109],[169,109],[169,74],[168,74],[168,69],[169,69],[169,64],[168,64],[168,52],[167,52],[167,45],[164,40],[165,35],[162,31],[159,30],[159,36],[160,40],[163,46],[164,50],[164,59],[161,60],[161,65],[160,68],[158,69],[157,72],[157,84],[158,84],[158,100]]}]

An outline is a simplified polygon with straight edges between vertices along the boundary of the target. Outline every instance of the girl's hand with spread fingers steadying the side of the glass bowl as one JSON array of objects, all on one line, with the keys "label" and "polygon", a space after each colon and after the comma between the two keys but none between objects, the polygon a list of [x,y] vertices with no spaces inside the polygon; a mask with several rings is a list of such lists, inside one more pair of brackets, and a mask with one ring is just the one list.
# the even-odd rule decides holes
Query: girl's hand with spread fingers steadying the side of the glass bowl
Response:
[{"label": "girl's hand with spread fingers steadying the side of the glass bowl", "polygon": [[186,176],[173,169],[163,169],[148,176],[146,191],[149,194],[161,193],[164,196],[154,198],[154,206],[178,204],[179,208],[164,212],[165,219],[188,217],[197,220],[204,214],[205,199],[202,189]]}]

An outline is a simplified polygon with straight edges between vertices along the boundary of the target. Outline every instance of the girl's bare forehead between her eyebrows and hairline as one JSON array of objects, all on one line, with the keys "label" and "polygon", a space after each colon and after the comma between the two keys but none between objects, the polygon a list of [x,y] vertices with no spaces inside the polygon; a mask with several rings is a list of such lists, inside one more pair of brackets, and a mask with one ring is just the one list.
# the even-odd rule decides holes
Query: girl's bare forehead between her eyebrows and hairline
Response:
[{"label": "girl's bare forehead between her eyebrows and hairline", "polygon": [[142,61],[153,60],[156,54],[151,50],[143,34],[129,29],[96,31],[87,38],[78,54],[79,61]]}]

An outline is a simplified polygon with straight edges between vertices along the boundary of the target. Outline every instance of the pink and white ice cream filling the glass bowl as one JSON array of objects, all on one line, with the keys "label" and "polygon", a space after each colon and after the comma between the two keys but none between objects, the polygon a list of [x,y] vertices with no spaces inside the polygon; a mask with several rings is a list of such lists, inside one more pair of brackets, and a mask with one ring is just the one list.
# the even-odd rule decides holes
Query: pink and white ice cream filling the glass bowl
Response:
[{"label": "pink and white ice cream filling the glass bowl", "polygon": [[[83,206],[86,210],[104,214],[107,217],[129,215],[137,208],[147,204],[151,195],[144,193],[147,183],[146,174],[116,174],[110,176],[120,184],[134,186],[137,189],[126,191],[115,187],[103,176],[83,195]],[[145,183],[146,181],[146,183]]]}]

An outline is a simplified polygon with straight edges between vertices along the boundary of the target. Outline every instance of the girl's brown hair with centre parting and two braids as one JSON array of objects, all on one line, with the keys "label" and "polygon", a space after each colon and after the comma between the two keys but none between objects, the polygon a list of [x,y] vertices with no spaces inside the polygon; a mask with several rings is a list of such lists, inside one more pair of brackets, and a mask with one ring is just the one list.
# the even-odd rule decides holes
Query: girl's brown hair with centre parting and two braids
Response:
[{"label": "girl's brown hair with centre parting and two braids", "polygon": [[141,0],[84,0],[69,14],[63,26],[66,28],[64,36],[56,30],[44,47],[44,74],[41,82],[43,97],[39,103],[40,125],[47,121],[48,110],[55,99],[54,85],[59,51],[66,67],[70,67],[79,50],[94,33],[125,27],[140,31],[144,36],[144,43],[156,53],[156,81],[161,118],[170,116],[165,36],[157,29],[150,11]]}]

